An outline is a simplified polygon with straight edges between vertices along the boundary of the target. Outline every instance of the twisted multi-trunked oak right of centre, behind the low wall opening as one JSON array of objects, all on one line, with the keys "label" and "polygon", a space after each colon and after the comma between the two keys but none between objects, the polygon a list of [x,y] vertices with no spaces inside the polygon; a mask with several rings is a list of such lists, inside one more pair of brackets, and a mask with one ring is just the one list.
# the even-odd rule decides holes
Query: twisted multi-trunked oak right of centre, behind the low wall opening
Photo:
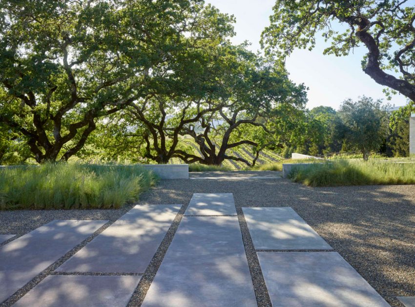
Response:
[{"label": "twisted multi-trunked oak right of centre, behind the low wall opening", "polygon": [[[246,46],[229,50],[232,73],[223,78],[224,105],[216,112],[203,115],[199,125],[187,125],[183,134],[190,135],[200,154],[181,153],[187,163],[220,165],[225,159],[255,164],[258,153],[275,146],[280,129],[278,117],[282,106],[302,108],[306,102],[304,86],[292,83],[284,67],[249,52]],[[255,151],[249,161],[230,154],[239,146],[249,145]]]}]

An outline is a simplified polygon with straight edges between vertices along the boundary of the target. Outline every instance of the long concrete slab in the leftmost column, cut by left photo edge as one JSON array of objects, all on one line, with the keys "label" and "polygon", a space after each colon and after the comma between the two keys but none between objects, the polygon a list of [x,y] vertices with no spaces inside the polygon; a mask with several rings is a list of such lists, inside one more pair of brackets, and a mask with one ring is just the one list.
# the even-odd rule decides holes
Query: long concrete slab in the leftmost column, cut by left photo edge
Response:
[{"label": "long concrete slab in the leftmost column, cut by left photo edge", "polygon": [[0,247],[0,303],[106,222],[54,220]]}]

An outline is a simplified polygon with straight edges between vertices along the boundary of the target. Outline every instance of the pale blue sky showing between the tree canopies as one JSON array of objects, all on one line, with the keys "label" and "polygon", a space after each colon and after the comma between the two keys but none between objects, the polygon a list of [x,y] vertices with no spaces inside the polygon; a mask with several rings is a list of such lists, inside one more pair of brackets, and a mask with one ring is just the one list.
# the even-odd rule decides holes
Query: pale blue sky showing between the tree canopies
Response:
[{"label": "pale blue sky showing between the tree canopies", "polygon": [[[269,25],[272,6],[275,0],[206,0],[236,18],[236,36],[231,40],[252,43],[250,49],[260,49],[259,39],[264,28]],[[295,50],[287,58],[286,66],[290,78],[296,83],[304,83],[308,91],[308,108],[324,105],[338,109],[340,103],[347,99],[357,99],[366,95],[374,99],[384,99],[383,87],[367,76],[361,69],[360,62],[366,53],[364,47],[354,50],[347,57],[324,56],[324,40],[317,42],[312,51]],[[395,106],[406,104],[406,97],[395,95],[389,103]]]}]

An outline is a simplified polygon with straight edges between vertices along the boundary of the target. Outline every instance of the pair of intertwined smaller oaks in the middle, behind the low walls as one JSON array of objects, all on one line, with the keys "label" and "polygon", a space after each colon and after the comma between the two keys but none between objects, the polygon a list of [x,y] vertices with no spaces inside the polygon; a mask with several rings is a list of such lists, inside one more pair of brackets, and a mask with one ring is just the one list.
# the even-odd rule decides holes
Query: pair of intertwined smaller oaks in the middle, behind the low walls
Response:
[{"label": "pair of intertwined smaller oaks in the middle, behind the low walls", "polygon": [[[228,150],[249,145],[258,153],[275,145],[273,138],[281,133],[278,117],[304,108],[304,86],[292,83],[282,66],[266,62],[245,45],[223,43],[205,52],[207,60],[199,61],[203,67],[193,76],[192,91],[152,93],[114,115],[114,127],[105,124],[112,133],[121,127],[104,136],[112,144],[104,149],[110,157],[126,151],[157,163],[178,157],[187,163],[220,165],[231,159],[250,166],[255,160]],[[110,140],[114,137],[118,142]],[[192,138],[198,153],[185,148],[179,137]]]}]

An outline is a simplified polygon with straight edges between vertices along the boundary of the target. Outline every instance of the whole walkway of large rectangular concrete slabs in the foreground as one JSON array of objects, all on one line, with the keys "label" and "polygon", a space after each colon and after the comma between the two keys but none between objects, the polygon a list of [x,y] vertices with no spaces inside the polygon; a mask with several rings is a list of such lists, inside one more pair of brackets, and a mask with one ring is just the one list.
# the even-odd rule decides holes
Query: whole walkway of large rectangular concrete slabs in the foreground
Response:
[{"label": "whole walkway of large rectangular concrete slabs in the foreground", "polygon": [[[161,265],[148,274],[178,214],[181,221]],[[249,265],[244,221],[261,272]],[[182,207],[137,205],[51,275],[35,278],[105,223],[57,220],[1,246],[0,303],[8,306],[7,298],[31,282],[15,306],[121,307],[144,287],[145,277],[144,307],[249,307],[262,300],[252,284],[253,274],[260,274],[274,307],[389,306],[291,208],[238,211],[232,193],[195,193]]]}]

